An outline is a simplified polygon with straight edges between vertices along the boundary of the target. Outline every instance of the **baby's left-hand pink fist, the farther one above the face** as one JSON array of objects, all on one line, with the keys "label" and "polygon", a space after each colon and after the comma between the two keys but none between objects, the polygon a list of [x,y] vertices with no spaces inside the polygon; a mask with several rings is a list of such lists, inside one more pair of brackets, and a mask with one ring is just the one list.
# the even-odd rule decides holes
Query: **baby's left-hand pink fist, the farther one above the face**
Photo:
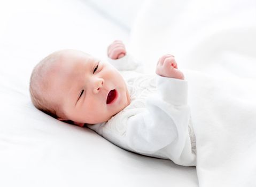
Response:
[{"label": "baby's left-hand pink fist, the farther one above the face", "polygon": [[126,55],[125,44],[120,40],[115,40],[107,48],[107,56],[111,59],[119,59]]}]

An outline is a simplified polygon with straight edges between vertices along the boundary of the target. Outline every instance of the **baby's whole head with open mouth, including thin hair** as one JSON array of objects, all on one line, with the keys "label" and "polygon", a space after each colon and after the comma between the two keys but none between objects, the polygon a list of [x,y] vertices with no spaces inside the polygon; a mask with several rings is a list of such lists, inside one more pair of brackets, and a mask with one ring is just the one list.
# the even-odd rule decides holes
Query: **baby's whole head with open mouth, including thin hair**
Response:
[{"label": "baby's whole head with open mouth, including thin hair", "polygon": [[130,103],[117,69],[76,50],[57,51],[40,61],[29,90],[39,110],[79,126],[107,121]]}]

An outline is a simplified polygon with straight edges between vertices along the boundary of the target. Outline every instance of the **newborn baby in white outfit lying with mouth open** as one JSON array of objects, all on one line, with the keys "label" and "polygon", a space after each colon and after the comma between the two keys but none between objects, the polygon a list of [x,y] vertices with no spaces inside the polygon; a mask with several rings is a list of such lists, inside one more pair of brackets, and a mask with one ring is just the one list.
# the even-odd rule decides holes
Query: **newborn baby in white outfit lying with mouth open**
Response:
[{"label": "newborn baby in white outfit lying with mouth open", "polygon": [[121,41],[107,54],[110,63],[76,50],[44,58],[30,77],[33,104],[58,120],[86,124],[123,149],[195,166],[188,84],[174,56],[162,56],[152,76],[138,71]]}]

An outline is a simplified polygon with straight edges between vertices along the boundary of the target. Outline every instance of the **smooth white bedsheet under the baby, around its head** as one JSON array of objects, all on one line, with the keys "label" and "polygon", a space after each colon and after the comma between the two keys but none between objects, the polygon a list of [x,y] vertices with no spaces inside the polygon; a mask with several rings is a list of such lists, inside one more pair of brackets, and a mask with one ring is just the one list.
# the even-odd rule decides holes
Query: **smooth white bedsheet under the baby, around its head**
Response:
[{"label": "smooth white bedsheet under the baby, around its head", "polygon": [[115,39],[129,33],[87,1],[0,2],[0,186],[198,186],[194,167],[124,151],[30,102],[30,73],[48,53],[105,58]]}]

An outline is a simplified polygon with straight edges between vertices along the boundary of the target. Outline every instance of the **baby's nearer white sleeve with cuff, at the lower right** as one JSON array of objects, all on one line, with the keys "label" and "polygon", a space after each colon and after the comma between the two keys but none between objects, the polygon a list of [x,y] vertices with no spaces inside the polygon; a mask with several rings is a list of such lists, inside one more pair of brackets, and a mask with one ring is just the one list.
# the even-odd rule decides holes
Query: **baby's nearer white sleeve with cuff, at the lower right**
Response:
[{"label": "baby's nearer white sleeve with cuff, at the lower right", "polygon": [[157,75],[157,93],[146,100],[146,110],[127,121],[126,142],[130,149],[153,154],[168,150],[168,157],[180,165],[190,165],[190,109],[188,82]]}]

